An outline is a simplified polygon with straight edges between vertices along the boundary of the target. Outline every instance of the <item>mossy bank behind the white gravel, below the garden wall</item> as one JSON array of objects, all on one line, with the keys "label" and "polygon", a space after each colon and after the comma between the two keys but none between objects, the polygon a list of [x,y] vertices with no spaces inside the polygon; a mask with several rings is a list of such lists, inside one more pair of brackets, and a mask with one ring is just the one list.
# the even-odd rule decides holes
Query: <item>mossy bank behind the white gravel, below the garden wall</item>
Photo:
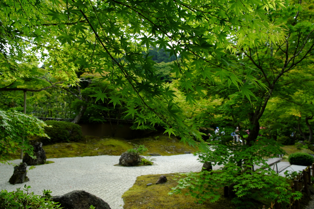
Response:
[{"label": "mossy bank behind the white gravel, below the garden wall", "polygon": [[[84,157],[97,155],[121,155],[135,145],[143,144],[148,151],[142,155],[151,153],[161,155],[184,154],[184,152],[196,152],[197,149],[181,143],[176,137],[169,138],[163,134],[156,134],[146,138],[125,140],[115,137],[84,136],[78,142],[46,144],[43,149],[49,158]],[[19,153],[11,155],[12,159],[19,159]]]}]

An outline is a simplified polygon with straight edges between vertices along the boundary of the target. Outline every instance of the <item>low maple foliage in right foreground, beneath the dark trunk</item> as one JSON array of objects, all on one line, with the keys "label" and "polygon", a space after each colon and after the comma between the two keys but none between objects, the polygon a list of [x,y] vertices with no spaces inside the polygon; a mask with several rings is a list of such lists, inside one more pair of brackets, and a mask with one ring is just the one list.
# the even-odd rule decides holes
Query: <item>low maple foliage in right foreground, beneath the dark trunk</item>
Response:
[{"label": "low maple foliage in right foreground, beneath the dark trunk", "polygon": [[[199,203],[209,199],[217,201],[221,194],[216,189],[230,186],[235,197],[232,202],[238,208],[250,208],[252,200],[259,198],[290,203],[291,197],[296,199],[302,195],[292,192],[290,184],[284,177],[269,168],[263,156],[284,153],[274,140],[260,138],[252,146],[233,144],[230,134],[220,136],[219,140],[211,141],[213,155],[198,153],[200,162],[211,162],[213,166],[223,165],[219,170],[190,173],[181,179],[172,193],[180,193],[188,188],[188,193],[198,199]],[[255,170],[253,165],[259,165]]]}]

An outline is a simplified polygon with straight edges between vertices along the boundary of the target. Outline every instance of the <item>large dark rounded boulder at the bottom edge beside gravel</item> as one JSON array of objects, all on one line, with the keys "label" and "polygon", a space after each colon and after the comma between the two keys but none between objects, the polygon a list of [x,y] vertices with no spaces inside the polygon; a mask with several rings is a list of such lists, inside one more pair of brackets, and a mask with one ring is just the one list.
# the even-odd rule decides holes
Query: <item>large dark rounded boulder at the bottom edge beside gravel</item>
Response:
[{"label": "large dark rounded boulder at the bottom edge beside gravel", "polygon": [[108,203],[83,190],[71,191],[62,196],[53,196],[54,202],[59,202],[63,209],[88,209],[93,205],[96,209],[111,209]]}]

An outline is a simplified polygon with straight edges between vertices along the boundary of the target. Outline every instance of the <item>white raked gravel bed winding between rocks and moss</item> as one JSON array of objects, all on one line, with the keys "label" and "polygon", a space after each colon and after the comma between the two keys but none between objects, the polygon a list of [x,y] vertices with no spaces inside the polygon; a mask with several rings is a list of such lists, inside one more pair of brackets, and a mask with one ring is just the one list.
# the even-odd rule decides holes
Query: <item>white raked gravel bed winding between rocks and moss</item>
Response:
[{"label": "white raked gravel bed winding between rocks and moss", "polygon": [[[114,166],[119,163],[119,158],[101,155],[47,159],[54,163],[37,165],[27,172],[30,181],[16,185],[8,182],[13,166],[0,164],[0,190],[15,191],[16,188],[23,188],[24,184],[30,185],[30,191],[37,195],[41,195],[44,189],[51,190],[52,196],[84,190],[106,201],[111,209],[122,209],[124,203],[121,196],[133,186],[137,176],[195,172],[202,168],[202,163],[193,154],[155,156],[152,157],[154,165],[139,167]],[[22,160],[10,162],[19,164]]]}]

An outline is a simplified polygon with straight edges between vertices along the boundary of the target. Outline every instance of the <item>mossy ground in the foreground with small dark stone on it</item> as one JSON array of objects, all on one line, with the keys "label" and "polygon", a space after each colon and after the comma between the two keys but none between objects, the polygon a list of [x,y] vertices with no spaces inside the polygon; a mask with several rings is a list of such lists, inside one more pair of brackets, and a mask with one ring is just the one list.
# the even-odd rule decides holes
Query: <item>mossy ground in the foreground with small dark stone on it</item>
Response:
[{"label": "mossy ground in the foreground with small dark stone on it", "polygon": [[[167,182],[164,184],[156,185],[156,181],[160,175],[167,177]],[[191,196],[183,194],[168,195],[172,187],[177,185],[174,180],[175,174],[157,174],[157,175],[142,175],[138,176],[134,185],[126,191],[122,198],[124,200],[124,209],[149,209],[149,208],[162,208],[162,209],[234,209],[236,208],[228,198],[220,198],[215,203],[209,201],[198,204]],[[147,184],[152,185],[147,186]],[[219,190],[223,194],[223,189]],[[263,206],[261,207],[263,208]]]}]

